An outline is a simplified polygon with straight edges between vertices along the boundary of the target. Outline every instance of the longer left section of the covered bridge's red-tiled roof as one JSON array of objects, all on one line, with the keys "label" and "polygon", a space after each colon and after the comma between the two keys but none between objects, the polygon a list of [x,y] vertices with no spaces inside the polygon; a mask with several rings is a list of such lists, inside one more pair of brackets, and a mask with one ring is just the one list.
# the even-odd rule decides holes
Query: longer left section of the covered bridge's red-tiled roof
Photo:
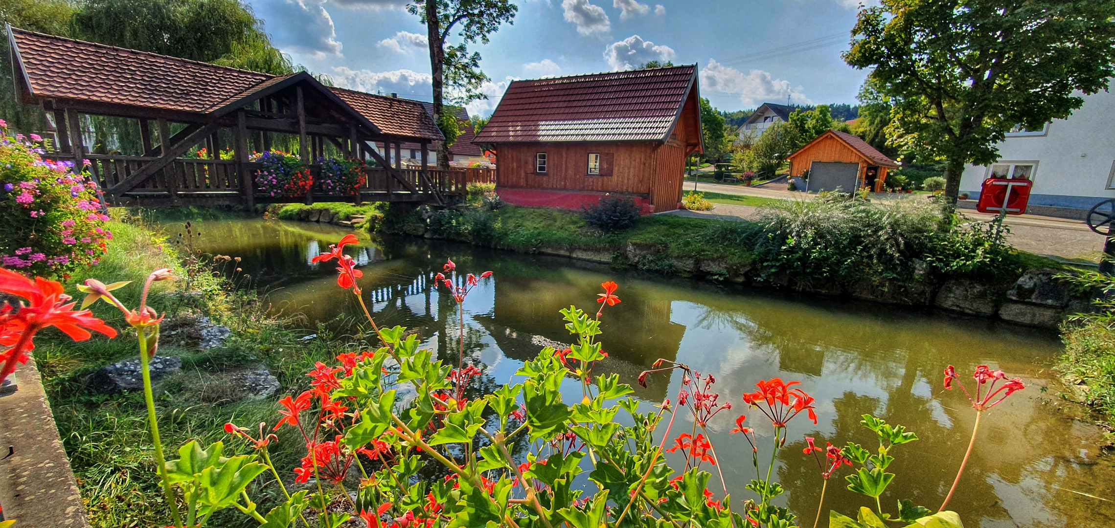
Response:
[{"label": "longer left section of the covered bridge's red-tiled roof", "polygon": [[271,78],[16,28],[11,33],[37,97],[204,113]]}]

